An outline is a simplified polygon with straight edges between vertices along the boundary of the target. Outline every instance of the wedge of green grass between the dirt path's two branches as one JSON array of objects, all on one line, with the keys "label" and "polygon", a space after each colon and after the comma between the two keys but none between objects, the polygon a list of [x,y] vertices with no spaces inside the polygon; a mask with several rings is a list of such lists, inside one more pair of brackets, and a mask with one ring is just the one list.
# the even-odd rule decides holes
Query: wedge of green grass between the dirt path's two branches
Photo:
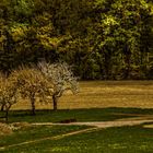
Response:
[{"label": "wedge of green grass between the dirt path's two branches", "polygon": [[[7,149],[10,151],[13,151],[12,149],[15,148],[15,145],[21,144],[23,142],[30,142],[30,144],[34,143],[35,148],[35,142],[32,141],[37,141],[46,138],[52,138],[57,136],[62,136],[64,133],[82,130],[82,129],[87,129],[86,126],[31,126],[31,127],[23,127],[20,130],[14,130],[12,134],[7,134],[7,136],[0,136],[0,152],[7,152]],[[43,142],[43,141],[42,141]],[[10,146],[14,145],[14,146]],[[26,144],[21,144],[21,148]],[[36,144],[37,145],[37,144]],[[1,148],[5,148],[2,150]],[[28,148],[26,149],[26,152],[34,152],[35,150]],[[16,153],[20,153],[21,150],[13,151]]]}]

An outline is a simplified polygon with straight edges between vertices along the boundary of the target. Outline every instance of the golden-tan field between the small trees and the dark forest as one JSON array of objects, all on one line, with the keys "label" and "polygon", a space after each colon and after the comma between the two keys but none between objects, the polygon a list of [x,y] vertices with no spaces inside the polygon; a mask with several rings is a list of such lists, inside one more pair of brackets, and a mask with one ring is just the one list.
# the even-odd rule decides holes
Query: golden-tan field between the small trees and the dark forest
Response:
[{"label": "golden-tan field between the small trees and the dark forest", "polygon": [[[153,108],[153,81],[87,81],[80,82],[80,93],[70,92],[59,99],[59,109],[134,107]],[[27,101],[21,101],[12,109],[30,109]],[[52,109],[48,104],[36,104],[37,109]]]}]

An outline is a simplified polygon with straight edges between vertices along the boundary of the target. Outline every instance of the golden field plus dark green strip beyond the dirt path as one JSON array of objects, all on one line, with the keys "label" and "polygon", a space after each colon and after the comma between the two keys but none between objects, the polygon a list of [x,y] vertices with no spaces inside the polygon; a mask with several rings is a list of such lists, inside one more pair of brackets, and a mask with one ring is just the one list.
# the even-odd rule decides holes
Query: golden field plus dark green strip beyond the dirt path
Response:
[{"label": "golden field plus dark green strip beyond the dirt path", "polygon": [[30,102],[19,102],[9,113],[9,121],[59,122],[71,118],[105,121],[128,117],[120,114],[153,114],[153,81],[83,81],[80,93],[66,93],[58,108],[58,111],[51,110],[51,101],[46,105],[36,103],[33,117]]}]

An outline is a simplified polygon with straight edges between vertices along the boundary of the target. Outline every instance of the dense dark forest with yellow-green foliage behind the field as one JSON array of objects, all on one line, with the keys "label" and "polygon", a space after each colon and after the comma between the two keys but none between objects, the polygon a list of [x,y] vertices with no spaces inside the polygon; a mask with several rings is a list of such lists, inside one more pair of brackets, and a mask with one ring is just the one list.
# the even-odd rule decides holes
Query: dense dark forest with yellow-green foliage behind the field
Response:
[{"label": "dense dark forest with yellow-green foliage behind the field", "polygon": [[0,0],[0,70],[42,60],[82,80],[153,79],[152,0]]}]

